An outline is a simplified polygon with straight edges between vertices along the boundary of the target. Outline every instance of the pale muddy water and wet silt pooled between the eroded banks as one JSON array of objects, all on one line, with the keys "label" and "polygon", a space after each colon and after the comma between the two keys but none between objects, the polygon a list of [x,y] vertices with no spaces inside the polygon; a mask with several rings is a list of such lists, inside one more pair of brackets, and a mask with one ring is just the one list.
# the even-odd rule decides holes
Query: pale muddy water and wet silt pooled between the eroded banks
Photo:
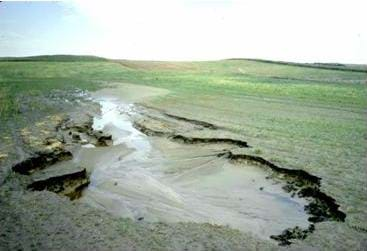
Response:
[{"label": "pale muddy water and wet silt pooled between the eroded banks", "polygon": [[209,222],[264,239],[308,226],[305,201],[266,179],[266,170],[218,158],[215,146],[148,138],[132,126],[133,105],[98,101],[102,115],[93,126],[111,133],[114,145],[87,146],[75,158],[93,168],[86,203],[136,220]]}]

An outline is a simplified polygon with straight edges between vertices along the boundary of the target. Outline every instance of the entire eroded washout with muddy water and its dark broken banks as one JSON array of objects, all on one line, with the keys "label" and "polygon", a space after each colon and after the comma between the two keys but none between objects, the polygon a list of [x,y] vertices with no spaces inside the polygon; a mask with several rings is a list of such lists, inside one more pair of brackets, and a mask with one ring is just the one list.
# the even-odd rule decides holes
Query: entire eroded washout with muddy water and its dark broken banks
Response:
[{"label": "entire eroded washout with muddy water and its dark broken banks", "polygon": [[27,189],[137,222],[209,222],[279,245],[307,238],[319,222],[345,220],[321,191],[321,178],[244,153],[246,140],[221,126],[97,101],[100,115],[79,111],[59,119],[42,150],[13,165],[30,177]]}]

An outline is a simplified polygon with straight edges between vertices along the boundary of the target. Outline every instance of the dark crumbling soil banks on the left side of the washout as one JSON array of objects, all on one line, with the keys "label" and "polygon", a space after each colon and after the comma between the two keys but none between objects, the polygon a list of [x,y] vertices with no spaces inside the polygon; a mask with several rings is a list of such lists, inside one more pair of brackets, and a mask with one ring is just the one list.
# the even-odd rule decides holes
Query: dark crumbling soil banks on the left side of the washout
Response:
[{"label": "dark crumbling soil banks on the left side of the washout", "polygon": [[[30,177],[26,184],[28,190],[48,190],[71,200],[81,197],[83,189],[90,183],[87,169],[59,163],[69,163],[74,157],[73,152],[81,145],[103,147],[112,144],[111,135],[92,128],[93,117],[90,113],[78,111],[74,116],[58,118],[54,123],[41,121],[38,123],[40,128],[33,133],[34,128],[23,129],[23,142],[33,145],[29,147],[29,156],[13,165],[12,170]],[[46,124],[53,124],[53,127],[45,128]],[[34,133],[39,130],[43,134],[36,135],[39,142],[35,144]]]}]

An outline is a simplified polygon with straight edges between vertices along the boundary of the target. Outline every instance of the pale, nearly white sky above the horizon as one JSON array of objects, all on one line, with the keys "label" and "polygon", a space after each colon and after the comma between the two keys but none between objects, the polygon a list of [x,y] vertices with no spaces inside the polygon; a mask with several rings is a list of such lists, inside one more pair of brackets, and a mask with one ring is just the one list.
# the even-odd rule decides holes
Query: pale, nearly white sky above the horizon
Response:
[{"label": "pale, nearly white sky above the horizon", "polygon": [[260,58],[367,64],[365,0],[0,3],[0,57]]}]

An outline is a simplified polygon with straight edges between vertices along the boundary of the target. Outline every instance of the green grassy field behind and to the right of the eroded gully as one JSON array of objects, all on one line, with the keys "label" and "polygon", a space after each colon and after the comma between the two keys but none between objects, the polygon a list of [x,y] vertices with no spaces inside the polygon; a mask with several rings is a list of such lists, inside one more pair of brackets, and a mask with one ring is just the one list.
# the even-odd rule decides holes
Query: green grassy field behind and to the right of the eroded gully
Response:
[{"label": "green grassy field behind and to the right of the eroded gully", "polygon": [[[306,241],[353,246],[367,231],[367,69],[316,66],[253,60],[6,59],[0,61],[0,122],[26,117],[23,100],[55,89],[95,90],[111,82],[168,89],[170,94],[150,105],[224,126],[247,138],[257,154],[321,177],[322,189],[347,219],[320,224],[321,235]],[[28,108],[56,112],[37,102]]]}]

